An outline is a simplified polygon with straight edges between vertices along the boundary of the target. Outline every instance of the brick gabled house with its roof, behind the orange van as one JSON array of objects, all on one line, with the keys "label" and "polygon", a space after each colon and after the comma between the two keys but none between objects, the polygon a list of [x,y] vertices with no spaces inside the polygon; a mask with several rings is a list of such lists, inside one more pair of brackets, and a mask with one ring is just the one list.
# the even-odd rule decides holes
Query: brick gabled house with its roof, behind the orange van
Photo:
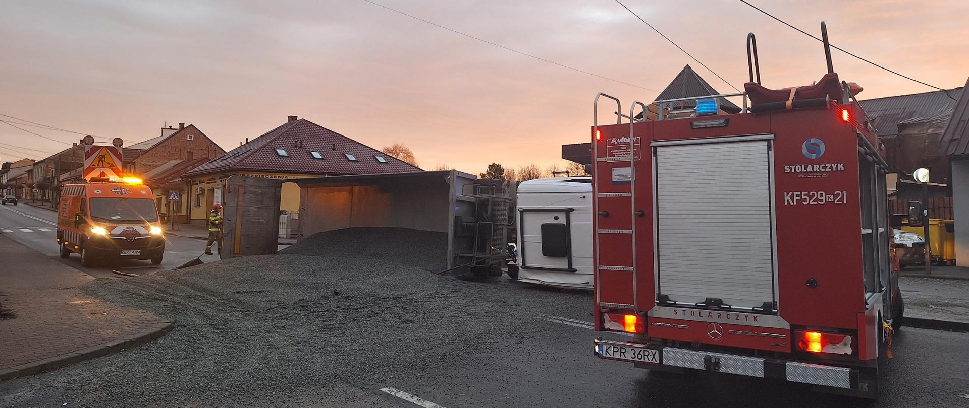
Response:
[{"label": "brick gabled house with its roof, behind the orange van", "polygon": [[166,165],[187,160],[217,158],[226,153],[195,125],[178,124],[178,129],[162,128],[161,135],[124,148],[127,175],[143,177]]}]

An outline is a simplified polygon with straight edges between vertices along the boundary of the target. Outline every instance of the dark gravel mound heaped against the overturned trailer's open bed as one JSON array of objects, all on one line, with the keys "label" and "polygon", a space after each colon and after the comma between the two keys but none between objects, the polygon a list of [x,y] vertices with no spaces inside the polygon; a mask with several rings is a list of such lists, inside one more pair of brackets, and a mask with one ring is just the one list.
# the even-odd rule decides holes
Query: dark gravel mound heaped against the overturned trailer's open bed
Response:
[{"label": "dark gravel mound heaped against the overturned trailer's open bed", "polygon": [[448,234],[393,227],[344,228],[313,234],[279,253],[377,259],[438,272],[447,269]]}]

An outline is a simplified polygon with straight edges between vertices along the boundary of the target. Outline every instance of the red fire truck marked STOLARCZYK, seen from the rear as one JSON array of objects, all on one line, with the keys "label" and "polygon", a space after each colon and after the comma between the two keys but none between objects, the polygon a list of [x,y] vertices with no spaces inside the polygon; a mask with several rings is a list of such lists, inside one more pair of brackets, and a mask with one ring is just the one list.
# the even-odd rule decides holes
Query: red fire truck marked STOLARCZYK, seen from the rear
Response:
[{"label": "red fire truck marked STOLARCZYK, seen from the rear", "polygon": [[[633,334],[595,339],[596,356],[877,395],[902,313],[888,167],[822,32],[812,86],[761,86],[750,34],[746,92],[628,116],[596,96],[618,110],[592,128],[595,329]],[[718,109],[728,97],[741,113]],[[647,115],[671,102],[691,106]]]}]

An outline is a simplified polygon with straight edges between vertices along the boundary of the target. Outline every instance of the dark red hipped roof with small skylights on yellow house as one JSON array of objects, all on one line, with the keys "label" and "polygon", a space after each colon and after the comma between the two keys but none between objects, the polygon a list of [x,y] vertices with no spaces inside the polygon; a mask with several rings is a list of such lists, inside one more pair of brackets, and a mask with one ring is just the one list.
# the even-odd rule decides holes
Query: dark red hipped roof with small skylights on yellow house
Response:
[{"label": "dark red hipped roof with small skylights on yellow house", "polygon": [[[285,150],[280,156],[277,149]],[[322,159],[313,157],[312,152]],[[349,160],[346,155],[357,160]],[[382,157],[387,162],[377,160]],[[266,171],[301,174],[379,174],[422,171],[391,155],[305,119],[267,131],[225,155],[186,173],[196,176],[223,171]]]}]

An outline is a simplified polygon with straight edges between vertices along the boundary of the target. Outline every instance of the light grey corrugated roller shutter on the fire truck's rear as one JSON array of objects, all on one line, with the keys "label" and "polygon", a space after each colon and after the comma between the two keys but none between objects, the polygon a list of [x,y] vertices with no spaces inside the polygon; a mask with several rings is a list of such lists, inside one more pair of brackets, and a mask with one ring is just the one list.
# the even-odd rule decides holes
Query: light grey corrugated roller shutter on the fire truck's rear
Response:
[{"label": "light grey corrugated roller shutter on the fire truck's rear", "polygon": [[656,149],[659,292],[688,304],[774,301],[767,141]]}]

